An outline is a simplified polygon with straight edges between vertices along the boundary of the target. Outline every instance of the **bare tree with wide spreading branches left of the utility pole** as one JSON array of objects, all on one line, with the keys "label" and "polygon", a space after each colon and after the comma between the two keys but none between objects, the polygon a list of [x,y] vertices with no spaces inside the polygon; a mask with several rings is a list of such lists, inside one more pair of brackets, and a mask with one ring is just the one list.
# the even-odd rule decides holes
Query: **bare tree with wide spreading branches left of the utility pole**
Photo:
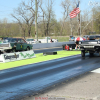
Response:
[{"label": "bare tree with wide spreading branches left of the utility pole", "polygon": [[24,33],[28,32],[28,36],[31,35],[31,27],[33,25],[33,22],[35,20],[35,14],[30,12],[29,9],[26,8],[25,2],[22,2],[20,6],[15,10],[15,14],[11,14],[12,17],[14,17],[19,25],[21,26],[21,29]]}]

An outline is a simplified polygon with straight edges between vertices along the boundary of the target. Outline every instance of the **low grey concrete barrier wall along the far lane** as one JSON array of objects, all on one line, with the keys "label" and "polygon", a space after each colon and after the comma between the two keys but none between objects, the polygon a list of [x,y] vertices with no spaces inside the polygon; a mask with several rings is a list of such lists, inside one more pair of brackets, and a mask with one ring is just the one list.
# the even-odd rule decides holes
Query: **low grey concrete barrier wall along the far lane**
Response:
[{"label": "low grey concrete barrier wall along the far lane", "polygon": [[60,47],[64,44],[74,44],[75,42],[37,43],[33,44],[33,49]]}]

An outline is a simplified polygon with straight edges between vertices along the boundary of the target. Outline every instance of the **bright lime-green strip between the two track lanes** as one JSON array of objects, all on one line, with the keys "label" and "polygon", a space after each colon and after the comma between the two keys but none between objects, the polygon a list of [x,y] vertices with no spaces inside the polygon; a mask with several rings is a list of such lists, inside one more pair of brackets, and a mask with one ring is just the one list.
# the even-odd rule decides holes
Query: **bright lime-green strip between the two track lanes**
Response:
[{"label": "bright lime-green strip between the two track lanes", "polygon": [[14,68],[22,65],[27,65],[27,64],[34,64],[38,62],[48,61],[48,60],[57,59],[61,57],[67,57],[71,55],[77,55],[80,53],[81,53],[80,51],[57,51],[57,55],[46,55],[46,56],[44,56],[43,53],[40,53],[40,54],[36,54],[36,58],[14,61],[14,62],[7,62],[7,63],[0,63],[0,70]]}]

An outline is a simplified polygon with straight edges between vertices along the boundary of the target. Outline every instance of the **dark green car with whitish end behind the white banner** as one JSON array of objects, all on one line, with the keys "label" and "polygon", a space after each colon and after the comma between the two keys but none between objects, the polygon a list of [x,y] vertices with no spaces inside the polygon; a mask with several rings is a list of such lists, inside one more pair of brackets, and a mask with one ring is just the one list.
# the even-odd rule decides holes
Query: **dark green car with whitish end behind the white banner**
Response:
[{"label": "dark green car with whitish end behind the white banner", "polygon": [[27,44],[22,38],[7,38],[0,44],[0,54],[4,52],[28,51],[33,45]]}]

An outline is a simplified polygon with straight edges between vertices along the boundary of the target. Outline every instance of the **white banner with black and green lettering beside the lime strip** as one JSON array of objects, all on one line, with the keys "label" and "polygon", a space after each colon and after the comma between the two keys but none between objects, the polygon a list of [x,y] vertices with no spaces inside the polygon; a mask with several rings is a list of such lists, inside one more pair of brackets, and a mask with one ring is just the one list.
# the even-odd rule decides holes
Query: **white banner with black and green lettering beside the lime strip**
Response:
[{"label": "white banner with black and green lettering beside the lime strip", "polygon": [[4,53],[0,55],[0,63],[29,59],[34,57],[36,56],[33,50],[14,53]]}]

